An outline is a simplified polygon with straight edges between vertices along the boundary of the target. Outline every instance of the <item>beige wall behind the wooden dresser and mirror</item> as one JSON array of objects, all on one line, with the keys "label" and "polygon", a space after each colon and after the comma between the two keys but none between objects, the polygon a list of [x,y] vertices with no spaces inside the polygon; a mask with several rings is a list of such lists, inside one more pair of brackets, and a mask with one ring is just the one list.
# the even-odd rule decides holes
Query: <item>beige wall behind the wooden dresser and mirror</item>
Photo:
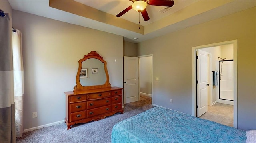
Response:
[{"label": "beige wall behind the wooden dresser and mirror", "polygon": [[[78,60],[96,51],[107,61],[110,83],[123,87],[123,37],[13,10],[22,32],[24,129],[62,121],[65,91],[72,91]],[[116,60],[116,62],[115,62]],[[32,118],[37,112],[37,118]]]}]

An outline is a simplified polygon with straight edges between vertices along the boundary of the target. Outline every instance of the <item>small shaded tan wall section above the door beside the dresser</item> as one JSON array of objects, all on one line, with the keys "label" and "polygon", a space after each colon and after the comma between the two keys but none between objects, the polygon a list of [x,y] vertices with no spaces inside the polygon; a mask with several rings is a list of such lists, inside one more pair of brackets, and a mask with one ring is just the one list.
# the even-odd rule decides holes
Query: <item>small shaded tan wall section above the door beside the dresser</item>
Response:
[{"label": "small shaded tan wall section above the door beside the dresser", "polygon": [[138,56],[137,44],[124,41],[124,56],[137,57]]}]

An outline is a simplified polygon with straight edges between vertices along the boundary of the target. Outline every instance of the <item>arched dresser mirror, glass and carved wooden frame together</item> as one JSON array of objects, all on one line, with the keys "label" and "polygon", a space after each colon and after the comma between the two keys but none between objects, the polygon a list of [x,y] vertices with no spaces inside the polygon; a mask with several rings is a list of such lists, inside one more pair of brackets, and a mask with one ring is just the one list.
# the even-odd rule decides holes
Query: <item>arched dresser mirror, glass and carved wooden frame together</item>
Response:
[{"label": "arched dresser mirror, glass and carved wooden frame together", "polygon": [[78,63],[74,91],[111,87],[107,62],[96,51],[84,55]]}]

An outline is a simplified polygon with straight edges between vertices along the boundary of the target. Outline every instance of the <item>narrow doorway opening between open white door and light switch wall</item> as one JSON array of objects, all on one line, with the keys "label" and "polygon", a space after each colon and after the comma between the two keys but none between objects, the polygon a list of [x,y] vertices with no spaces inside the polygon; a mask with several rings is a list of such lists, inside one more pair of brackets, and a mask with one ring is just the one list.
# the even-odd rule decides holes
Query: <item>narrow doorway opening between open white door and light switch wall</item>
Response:
[{"label": "narrow doorway opening between open white door and light switch wall", "polygon": [[[143,98],[153,100],[153,55],[139,56],[139,95]],[[140,98],[139,98],[140,100]]]}]

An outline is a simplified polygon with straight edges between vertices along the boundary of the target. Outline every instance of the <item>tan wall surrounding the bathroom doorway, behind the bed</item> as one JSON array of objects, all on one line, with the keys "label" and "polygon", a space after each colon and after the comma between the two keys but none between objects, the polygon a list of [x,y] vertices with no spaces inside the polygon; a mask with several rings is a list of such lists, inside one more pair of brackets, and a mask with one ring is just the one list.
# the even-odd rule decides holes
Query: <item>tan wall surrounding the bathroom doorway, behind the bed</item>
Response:
[{"label": "tan wall surrounding the bathroom doorway, behind the bed", "polygon": [[[238,39],[238,128],[256,129],[256,7],[138,44],[153,54],[153,104],[192,114],[192,47]],[[173,103],[170,103],[170,98]]]}]

